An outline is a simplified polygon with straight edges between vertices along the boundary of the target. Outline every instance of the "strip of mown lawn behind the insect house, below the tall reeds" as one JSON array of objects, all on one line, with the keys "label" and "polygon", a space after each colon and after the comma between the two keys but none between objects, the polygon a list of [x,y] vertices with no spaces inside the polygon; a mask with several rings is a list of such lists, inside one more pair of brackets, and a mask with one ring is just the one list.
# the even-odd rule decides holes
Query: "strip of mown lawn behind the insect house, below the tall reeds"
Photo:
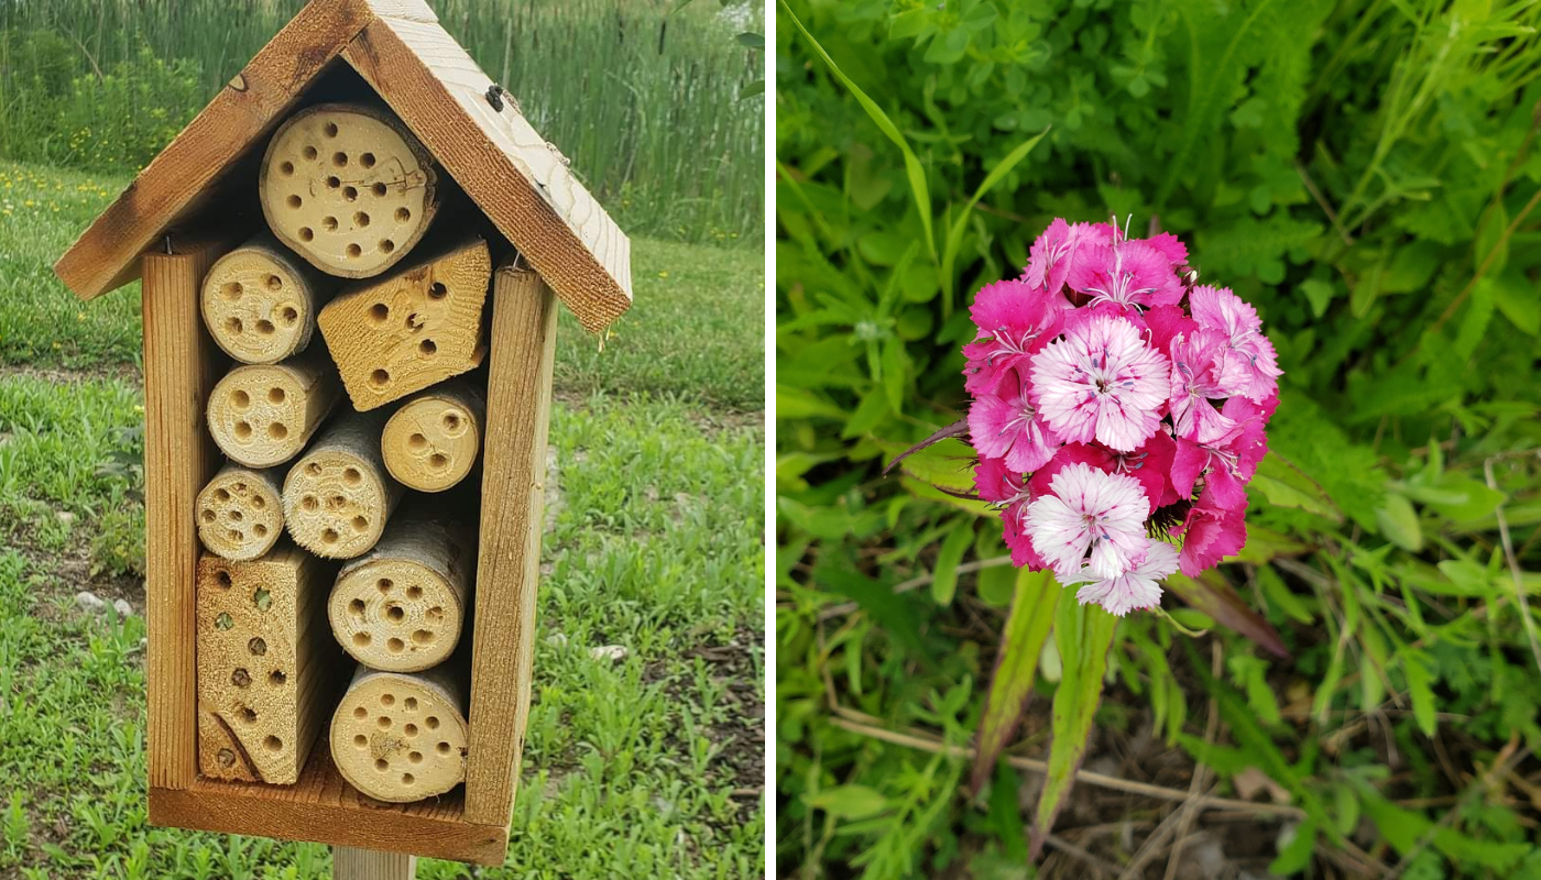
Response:
[{"label": "strip of mown lawn behind the insect house, below the tall reeds", "polygon": [[[0,364],[137,361],[139,285],[82,304],[49,268],[126,185],[126,177],[0,160]],[[596,336],[562,313],[558,387],[761,408],[763,274],[755,250],[633,242],[632,311],[612,327],[603,351]]]}]

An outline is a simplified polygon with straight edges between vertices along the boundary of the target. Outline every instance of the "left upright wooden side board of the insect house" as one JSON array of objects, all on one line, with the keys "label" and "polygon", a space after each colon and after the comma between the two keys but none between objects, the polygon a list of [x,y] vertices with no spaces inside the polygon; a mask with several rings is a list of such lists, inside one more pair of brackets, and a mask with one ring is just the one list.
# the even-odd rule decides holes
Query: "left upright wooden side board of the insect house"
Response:
[{"label": "left upright wooden side board of the insect house", "polygon": [[173,242],[176,253],[143,259],[148,749],[149,783],[162,788],[186,788],[197,775],[194,504],[219,465],[202,413],[222,361],[203,333],[199,285],[231,247]]}]

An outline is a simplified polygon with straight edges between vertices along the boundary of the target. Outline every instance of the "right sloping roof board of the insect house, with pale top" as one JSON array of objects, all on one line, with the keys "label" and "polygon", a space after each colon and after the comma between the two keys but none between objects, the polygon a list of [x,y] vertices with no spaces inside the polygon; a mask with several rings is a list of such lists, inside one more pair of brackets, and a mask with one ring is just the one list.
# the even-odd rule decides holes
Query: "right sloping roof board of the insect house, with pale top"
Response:
[{"label": "right sloping roof board of the insect house, with pale top", "polygon": [[342,57],[385,99],[584,328],[632,304],[630,242],[492,79],[439,25],[379,18]]}]

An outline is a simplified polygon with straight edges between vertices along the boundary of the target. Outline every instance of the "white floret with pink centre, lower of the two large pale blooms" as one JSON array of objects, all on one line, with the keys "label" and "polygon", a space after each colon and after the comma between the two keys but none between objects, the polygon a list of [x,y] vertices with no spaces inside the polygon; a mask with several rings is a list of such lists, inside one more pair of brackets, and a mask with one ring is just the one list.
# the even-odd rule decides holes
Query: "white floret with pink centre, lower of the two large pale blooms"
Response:
[{"label": "white floret with pink centre, lower of the two large pale blooms", "polygon": [[1117,578],[1145,561],[1150,502],[1139,481],[1076,462],[1049,489],[1028,504],[1026,530],[1056,575],[1080,576],[1085,563],[1096,579]]}]

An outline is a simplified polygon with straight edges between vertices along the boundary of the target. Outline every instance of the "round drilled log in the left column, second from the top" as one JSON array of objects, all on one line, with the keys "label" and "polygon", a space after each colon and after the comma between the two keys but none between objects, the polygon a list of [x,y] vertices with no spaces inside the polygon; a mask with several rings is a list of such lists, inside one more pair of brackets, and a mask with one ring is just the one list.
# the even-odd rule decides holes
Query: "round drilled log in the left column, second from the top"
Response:
[{"label": "round drilled log in the left column, second from the top", "polygon": [[299,455],[337,402],[336,373],[321,345],[282,364],[236,367],[208,398],[208,433],[247,467],[273,467]]}]

